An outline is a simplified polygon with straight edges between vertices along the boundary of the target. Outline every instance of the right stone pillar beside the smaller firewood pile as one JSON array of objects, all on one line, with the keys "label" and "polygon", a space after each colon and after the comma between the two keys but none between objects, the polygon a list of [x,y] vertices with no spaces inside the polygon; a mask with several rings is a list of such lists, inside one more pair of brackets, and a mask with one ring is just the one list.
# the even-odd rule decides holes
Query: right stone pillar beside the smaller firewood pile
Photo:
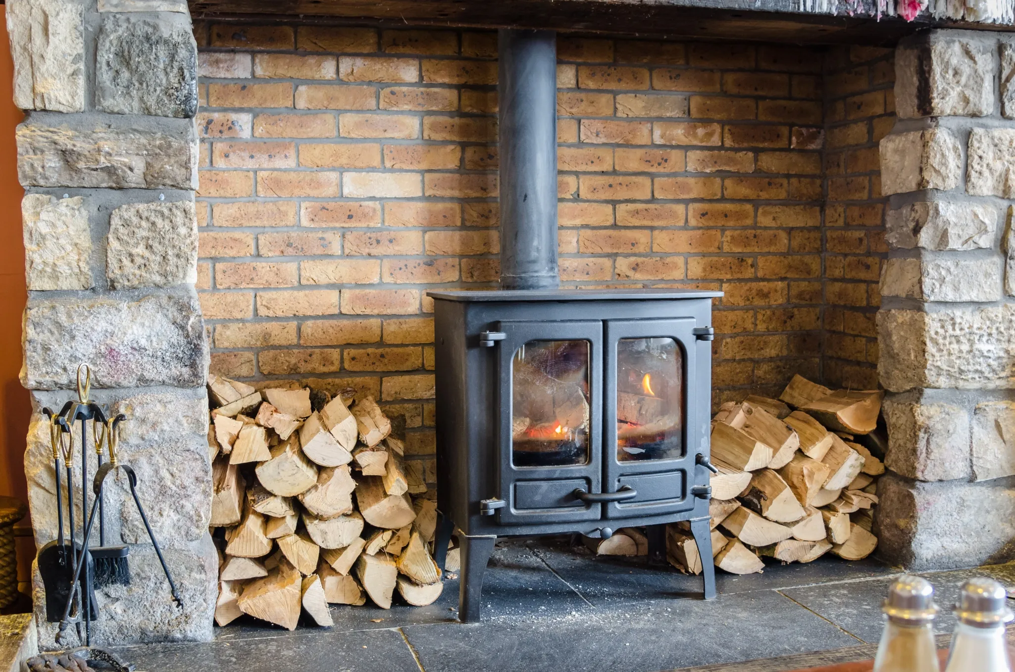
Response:
[{"label": "right stone pillar beside the smaller firewood pile", "polygon": [[878,313],[889,473],[880,553],[915,569],[1015,556],[1015,39],[932,30],[895,58],[881,141]]}]

